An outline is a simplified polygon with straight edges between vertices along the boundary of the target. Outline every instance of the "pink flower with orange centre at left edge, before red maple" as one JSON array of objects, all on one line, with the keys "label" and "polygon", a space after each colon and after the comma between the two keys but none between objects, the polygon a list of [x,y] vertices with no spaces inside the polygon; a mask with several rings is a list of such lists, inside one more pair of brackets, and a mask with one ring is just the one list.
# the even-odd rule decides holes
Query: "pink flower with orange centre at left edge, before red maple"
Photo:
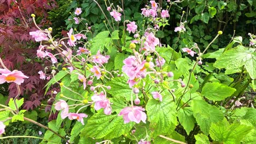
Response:
[{"label": "pink flower with orange centre at left edge, before red maple", "polygon": [[28,78],[28,76],[24,75],[21,71],[13,70],[10,71],[8,69],[0,69],[0,84],[4,82],[15,82],[18,85],[24,82],[25,78]]}]

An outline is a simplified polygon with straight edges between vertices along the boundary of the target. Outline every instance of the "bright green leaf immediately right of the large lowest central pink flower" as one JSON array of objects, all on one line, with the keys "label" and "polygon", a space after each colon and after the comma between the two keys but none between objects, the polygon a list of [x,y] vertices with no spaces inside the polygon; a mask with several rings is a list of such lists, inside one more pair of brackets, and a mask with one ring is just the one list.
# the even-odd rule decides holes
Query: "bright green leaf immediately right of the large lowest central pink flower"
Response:
[{"label": "bright green leaf immediately right of the large lowest central pink flower", "polygon": [[154,137],[167,134],[178,124],[176,105],[167,95],[163,96],[162,101],[149,99],[146,111]]}]

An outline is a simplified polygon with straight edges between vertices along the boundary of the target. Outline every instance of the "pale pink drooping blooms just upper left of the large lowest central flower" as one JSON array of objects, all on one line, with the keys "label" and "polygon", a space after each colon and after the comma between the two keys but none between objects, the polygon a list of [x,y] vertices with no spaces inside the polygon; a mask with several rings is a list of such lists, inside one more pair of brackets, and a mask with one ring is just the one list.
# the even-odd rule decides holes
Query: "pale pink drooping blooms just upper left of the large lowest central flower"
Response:
[{"label": "pale pink drooping blooms just upper left of the large lowest central flower", "polygon": [[104,113],[106,115],[110,115],[112,113],[110,101],[109,99],[107,99],[106,94],[104,94],[104,92],[101,92],[100,94],[95,92],[95,94],[91,97],[91,100],[95,102],[94,109],[96,111],[104,109]]}]

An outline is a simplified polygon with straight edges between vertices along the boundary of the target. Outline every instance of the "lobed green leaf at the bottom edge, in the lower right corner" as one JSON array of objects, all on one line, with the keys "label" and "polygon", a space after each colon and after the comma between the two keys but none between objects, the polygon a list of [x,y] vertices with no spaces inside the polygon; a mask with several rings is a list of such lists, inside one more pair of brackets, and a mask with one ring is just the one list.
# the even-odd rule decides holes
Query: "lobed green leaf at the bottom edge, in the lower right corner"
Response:
[{"label": "lobed green leaf at the bottom edge, in the lower right corner", "polygon": [[210,135],[214,141],[223,143],[240,143],[243,137],[252,130],[252,127],[229,122],[224,118],[223,121],[212,123]]}]

